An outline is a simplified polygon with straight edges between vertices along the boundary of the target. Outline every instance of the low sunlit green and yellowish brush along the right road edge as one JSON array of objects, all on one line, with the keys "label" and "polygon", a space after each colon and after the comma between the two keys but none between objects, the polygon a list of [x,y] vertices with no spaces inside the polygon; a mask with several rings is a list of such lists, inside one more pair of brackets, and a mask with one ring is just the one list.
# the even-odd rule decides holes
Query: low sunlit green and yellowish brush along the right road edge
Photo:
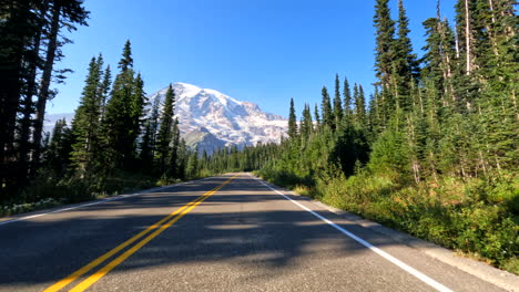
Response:
[{"label": "low sunlit green and yellowish brush along the right road edge", "polygon": [[[405,184],[398,174],[360,173],[325,177],[313,184],[274,170],[257,171],[273,184],[406,231],[440,246],[471,254],[519,274],[519,179],[512,174],[461,180]],[[289,182],[283,179],[289,177]]]}]

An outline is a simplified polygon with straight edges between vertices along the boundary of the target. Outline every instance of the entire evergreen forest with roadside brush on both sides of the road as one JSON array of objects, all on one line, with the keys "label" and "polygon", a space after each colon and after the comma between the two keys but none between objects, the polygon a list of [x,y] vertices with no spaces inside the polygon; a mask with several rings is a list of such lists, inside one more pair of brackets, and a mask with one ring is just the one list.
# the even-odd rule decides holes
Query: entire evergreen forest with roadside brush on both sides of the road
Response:
[{"label": "entire evergreen forest with roadside brush on both sides of the road", "polygon": [[[519,273],[518,17],[512,0],[458,0],[455,24],[423,22],[409,39],[401,0],[375,1],[375,73],[337,74],[297,119],[289,104],[281,144],[190,149],[175,93],[146,98],[130,41],[114,76],[89,64],[71,125],[43,133],[64,31],[85,25],[80,0],[0,3],[0,213],[73,202],[234,170],[275,184]],[[136,62],[139,63],[139,62]],[[318,90],[318,88],[317,88]],[[318,92],[317,92],[318,93]]]}]

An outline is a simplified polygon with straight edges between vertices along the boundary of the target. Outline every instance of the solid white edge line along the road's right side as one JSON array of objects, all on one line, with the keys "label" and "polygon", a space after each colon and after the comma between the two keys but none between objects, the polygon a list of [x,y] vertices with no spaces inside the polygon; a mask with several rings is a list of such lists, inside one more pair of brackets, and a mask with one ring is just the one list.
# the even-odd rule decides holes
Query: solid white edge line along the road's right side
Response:
[{"label": "solid white edge line along the road's right side", "polygon": [[448,289],[447,286],[438,283],[437,281],[435,281],[434,279],[425,275],[424,273],[421,273],[420,271],[416,270],[415,268],[404,263],[403,261],[398,260],[397,258],[393,257],[391,254],[383,251],[381,249],[373,246],[372,243],[367,242],[366,240],[355,236],[354,233],[349,232],[348,230],[342,228],[340,226],[332,222],[330,220],[326,219],[325,217],[318,215],[317,212],[311,210],[308,207],[302,205],[301,202],[296,201],[296,200],[293,200],[292,198],[289,198],[288,196],[284,195],[283,192],[274,189],[273,187],[268,186],[267,184],[263,182],[263,180],[258,179],[257,177],[254,177],[251,175],[251,177],[255,178],[257,181],[262,182],[265,187],[272,189],[273,191],[275,191],[276,194],[283,196],[285,199],[294,202],[295,205],[299,206],[302,209],[311,212],[313,216],[319,218],[320,220],[325,221],[326,223],[330,225],[332,227],[334,227],[335,229],[337,229],[338,231],[340,231],[342,233],[348,236],[349,238],[354,239],[355,241],[357,241],[358,243],[363,244],[364,247],[370,249],[372,251],[374,251],[375,253],[377,253],[378,255],[383,257],[384,259],[393,262],[394,264],[398,265],[400,269],[403,269],[404,271],[410,273],[411,275],[418,278],[419,280],[421,280],[423,282],[425,282],[426,284],[432,286],[434,289],[438,290],[438,291],[441,291],[441,292],[452,292],[452,290]]}]

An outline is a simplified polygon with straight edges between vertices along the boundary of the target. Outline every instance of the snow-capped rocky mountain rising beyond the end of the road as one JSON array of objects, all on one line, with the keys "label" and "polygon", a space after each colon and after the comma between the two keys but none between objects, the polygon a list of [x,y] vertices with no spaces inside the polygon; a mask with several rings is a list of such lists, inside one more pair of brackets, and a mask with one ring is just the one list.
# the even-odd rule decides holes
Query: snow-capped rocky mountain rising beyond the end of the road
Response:
[{"label": "snow-capped rocky mountain rising beyond the end of the road", "polygon": [[[151,94],[164,101],[167,87]],[[215,90],[174,83],[175,115],[186,143],[199,150],[223,146],[278,143],[287,132],[286,118],[263,112],[256,104],[237,101]]]}]

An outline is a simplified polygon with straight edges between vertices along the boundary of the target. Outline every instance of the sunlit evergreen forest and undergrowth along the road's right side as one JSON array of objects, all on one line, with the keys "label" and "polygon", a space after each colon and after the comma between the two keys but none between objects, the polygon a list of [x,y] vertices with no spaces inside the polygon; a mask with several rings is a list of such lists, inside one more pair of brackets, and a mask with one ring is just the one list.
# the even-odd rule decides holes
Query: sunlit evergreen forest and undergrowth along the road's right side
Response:
[{"label": "sunlit evergreen forest and undergrowth along the road's right side", "polygon": [[456,25],[438,8],[421,59],[403,1],[397,20],[388,2],[375,6],[374,93],[336,75],[299,121],[291,101],[288,138],[257,174],[519,273],[513,1],[459,0]]}]

